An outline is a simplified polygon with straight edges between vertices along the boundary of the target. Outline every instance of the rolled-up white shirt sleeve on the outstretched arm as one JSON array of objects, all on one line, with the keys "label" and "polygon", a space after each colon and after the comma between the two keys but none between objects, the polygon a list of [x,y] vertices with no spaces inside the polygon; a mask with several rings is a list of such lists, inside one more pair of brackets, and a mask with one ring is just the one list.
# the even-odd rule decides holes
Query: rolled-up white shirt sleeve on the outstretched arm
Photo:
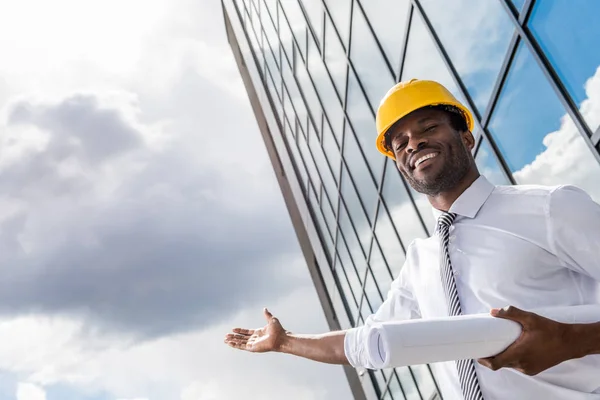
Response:
[{"label": "rolled-up white shirt sleeve on the outstretched arm", "polygon": [[[410,247],[409,247],[410,249]],[[367,333],[369,328],[378,322],[420,318],[418,304],[413,296],[410,284],[409,257],[400,270],[387,293],[387,297],[379,309],[365,320],[365,324],[349,329],[344,338],[344,353],[353,367],[374,369],[366,352]]]}]

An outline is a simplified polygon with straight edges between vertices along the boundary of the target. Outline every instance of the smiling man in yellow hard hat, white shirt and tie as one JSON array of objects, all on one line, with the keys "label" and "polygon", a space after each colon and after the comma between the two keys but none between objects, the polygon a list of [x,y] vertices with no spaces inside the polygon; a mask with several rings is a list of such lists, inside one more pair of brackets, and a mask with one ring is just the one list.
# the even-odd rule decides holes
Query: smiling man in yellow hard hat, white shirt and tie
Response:
[{"label": "smiling man in yellow hard hat, white shirt and tie", "polygon": [[377,148],[427,195],[436,234],[411,243],[363,327],[296,335],[265,309],[265,327],[236,328],[225,342],[372,368],[365,333],[374,322],[491,310],[520,323],[521,336],[495,357],[433,364],[445,399],[600,399],[600,323],[524,311],[599,302],[600,206],[572,186],[492,185],[472,157],[472,129],[468,109],[440,84],[394,86],[377,112]]}]

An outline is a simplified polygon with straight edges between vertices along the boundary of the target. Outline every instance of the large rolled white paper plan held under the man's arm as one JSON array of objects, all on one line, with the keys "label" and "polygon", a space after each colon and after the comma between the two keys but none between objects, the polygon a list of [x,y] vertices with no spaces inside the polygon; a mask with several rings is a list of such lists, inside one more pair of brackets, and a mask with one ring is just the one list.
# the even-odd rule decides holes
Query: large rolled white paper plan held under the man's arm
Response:
[{"label": "large rolled white paper plan held under the man's arm", "polygon": [[[564,323],[600,321],[600,305],[530,310]],[[490,314],[390,321],[367,332],[367,355],[376,369],[491,357],[521,334],[521,325]]]}]

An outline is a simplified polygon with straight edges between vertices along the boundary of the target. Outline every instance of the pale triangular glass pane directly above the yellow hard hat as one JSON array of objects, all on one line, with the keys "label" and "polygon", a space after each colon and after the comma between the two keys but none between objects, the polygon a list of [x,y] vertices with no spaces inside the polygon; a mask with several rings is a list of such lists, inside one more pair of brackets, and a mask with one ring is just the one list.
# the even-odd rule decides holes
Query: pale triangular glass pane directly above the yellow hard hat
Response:
[{"label": "pale triangular glass pane directly above the yellow hard hat", "polygon": [[437,81],[452,92],[465,106],[467,105],[417,9],[413,12],[406,56],[402,67],[402,80],[406,81],[412,78]]}]

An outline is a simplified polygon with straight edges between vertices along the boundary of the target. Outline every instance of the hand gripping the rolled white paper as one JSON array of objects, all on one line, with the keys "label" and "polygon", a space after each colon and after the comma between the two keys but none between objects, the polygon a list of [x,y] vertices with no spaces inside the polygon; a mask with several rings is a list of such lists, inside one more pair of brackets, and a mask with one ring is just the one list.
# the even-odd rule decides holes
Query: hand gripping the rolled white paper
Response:
[{"label": "hand gripping the rolled white paper", "polygon": [[518,322],[523,328],[521,336],[502,353],[478,360],[494,371],[506,367],[526,375],[537,375],[563,361],[582,356],[576,336],[572,334],[572,325],[512,306],[494,309],[491,314]]}]

